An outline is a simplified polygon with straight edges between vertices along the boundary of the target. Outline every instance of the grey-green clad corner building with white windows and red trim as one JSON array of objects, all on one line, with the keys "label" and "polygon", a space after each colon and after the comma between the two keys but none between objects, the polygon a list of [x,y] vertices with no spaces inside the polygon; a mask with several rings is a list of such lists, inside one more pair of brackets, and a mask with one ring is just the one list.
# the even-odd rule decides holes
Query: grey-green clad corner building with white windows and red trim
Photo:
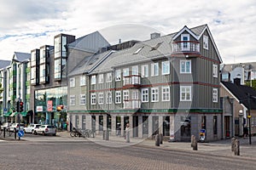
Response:
[{"label": "grey-green clad corner building with white windows and red trim", "polygon": [[207,140],[220,139],[222,60],[208,26],[184,26],[151,37],[131,48],[94,55],[84,71],[71,74],[70,124],[123,135],[129,123],[132,137],[163,133],[176,140],[198,137],[206,129]]}]

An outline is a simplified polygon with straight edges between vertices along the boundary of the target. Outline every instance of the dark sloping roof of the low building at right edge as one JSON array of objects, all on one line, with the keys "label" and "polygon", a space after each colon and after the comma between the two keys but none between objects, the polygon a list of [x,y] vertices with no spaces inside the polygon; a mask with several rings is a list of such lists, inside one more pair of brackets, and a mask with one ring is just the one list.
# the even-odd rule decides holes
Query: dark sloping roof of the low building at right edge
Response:
[{"label": "dark sloping roof of the low building at right edge", "polygon": [[[221,84],[223,84],[224,88],[227,88],[242,105],[245,105],[247,109],[249,108],[248,94],[256,98],[256,90],[251,87],[231,82],[221,82]],[[256,99],[252,97],[250,98],[250,107],[252,110],[256,110]]]}]

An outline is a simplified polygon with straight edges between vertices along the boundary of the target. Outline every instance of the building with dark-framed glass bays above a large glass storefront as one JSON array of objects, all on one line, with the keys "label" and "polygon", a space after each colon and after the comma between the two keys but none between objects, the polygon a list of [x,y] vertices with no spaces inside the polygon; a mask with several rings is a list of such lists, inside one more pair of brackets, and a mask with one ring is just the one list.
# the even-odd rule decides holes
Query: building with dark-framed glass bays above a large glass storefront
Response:
[{"label": "building with dark-framed glass bays above a large glass storefront", "polygon": [[32,50],[34,122],[67,127],[67,72],[105,46],[108,42],[99,32],[93,32],[78,39],[59,34],[54,37],[54,46],[45,45]]}]

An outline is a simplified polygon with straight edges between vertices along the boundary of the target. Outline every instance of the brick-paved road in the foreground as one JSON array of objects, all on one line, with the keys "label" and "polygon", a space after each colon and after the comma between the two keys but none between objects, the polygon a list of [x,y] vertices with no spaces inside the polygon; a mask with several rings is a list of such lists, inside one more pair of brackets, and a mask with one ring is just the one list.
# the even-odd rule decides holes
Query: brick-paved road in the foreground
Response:
[{"label": "brick-paved road in the foreground", "polygon": [[[33,137],[34,138],[34,137]],[[44,138],[42,136],[36,137]],[[89,140],[0,143],[0,169],[255,169],[253,159],[133,145],[107,147]],[[56,140],[55,140],[56,139]]]}]

